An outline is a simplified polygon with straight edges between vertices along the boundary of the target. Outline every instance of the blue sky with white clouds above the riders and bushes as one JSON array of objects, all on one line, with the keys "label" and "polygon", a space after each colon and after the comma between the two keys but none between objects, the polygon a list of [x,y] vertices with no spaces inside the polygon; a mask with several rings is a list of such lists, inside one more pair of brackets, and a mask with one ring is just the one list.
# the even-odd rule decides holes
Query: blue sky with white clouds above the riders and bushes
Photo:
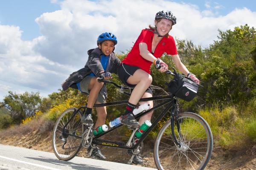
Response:
[{"label": "blue sky with white clouds above the riders and bushes", "polygon": [[102,32],[116,35],[116,53],[126,52],[162,10],[177,17],[170,35],[203,48],[218,29],[256,27],[251,0],[1,0],[0,101],[8,91],[58,92]]}]

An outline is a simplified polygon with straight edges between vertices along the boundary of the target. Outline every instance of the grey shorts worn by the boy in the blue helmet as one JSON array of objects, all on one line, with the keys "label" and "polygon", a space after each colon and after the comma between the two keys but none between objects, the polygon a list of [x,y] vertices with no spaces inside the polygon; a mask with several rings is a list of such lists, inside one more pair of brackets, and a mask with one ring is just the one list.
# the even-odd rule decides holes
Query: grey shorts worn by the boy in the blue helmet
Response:
[{"label": "grey shorts worn by the boy in the blue helmet", "polygon": [[[87,94],[90,93],[90,90],[88,90],[88,86],[90,84],[91,79],[93,78],[93,76],[86,76],[85,78],[83,78],[82,81],[80,81],[80,89],[81,92],[85,92]],[[99,103],[106,103],[106,98],[105,95],[100,91],[97,100]]]}]

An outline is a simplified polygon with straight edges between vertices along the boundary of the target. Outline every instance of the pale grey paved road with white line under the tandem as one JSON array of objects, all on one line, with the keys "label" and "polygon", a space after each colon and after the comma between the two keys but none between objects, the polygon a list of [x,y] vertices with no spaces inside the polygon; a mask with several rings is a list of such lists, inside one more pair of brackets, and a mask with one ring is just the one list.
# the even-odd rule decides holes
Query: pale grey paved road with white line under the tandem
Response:
[{"label": "pale grey paved road with white line under the tandem", "polygon": [[75,157],[59,160],[54,153],[0,144],[0,170],[156,170],[129,164]]}]

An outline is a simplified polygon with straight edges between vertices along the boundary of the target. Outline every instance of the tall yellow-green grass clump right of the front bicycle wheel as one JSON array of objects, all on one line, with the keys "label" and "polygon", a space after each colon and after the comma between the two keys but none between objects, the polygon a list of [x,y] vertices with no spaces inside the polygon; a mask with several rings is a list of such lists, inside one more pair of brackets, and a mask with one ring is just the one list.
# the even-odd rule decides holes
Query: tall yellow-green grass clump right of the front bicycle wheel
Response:
[{"label": "tall yellow-green grass clump right of the front bicycle wheel", "polygon": [[248,136],[252,140],[256,139],[256,121],[253,124],[250,117],[239,114],[234,106],[221,110],[215,104],[214,107],[200,109],[199,114],[208,122],[216,145],[226,149],[241,149],[246,145]]}]

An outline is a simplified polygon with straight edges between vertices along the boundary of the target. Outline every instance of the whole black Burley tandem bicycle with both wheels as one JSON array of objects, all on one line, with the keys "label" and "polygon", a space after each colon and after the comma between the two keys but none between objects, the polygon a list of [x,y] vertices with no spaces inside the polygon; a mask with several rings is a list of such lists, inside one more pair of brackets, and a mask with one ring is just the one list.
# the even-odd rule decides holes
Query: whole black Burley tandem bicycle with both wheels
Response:
[{"label": "whole black Burley tandem bicycle with both wheels", "polygon": [[[175,75],[175,72],[169,71],[167,73]],[[126,90],[124,91],[124,89],[131,89],[130,87],[119,86],[112,81],[104,79],[100,80],[100,78],[98,81],[111,83],[115,85],[118,88],[118,91],[122,94],[128,96],[131,95],[130,93],[125,92]],[[118,124],[108,131],[94,136],[92,133],[93,124],[83,124],[81,122],[81,117],[85,115],[87,105],[79,107],[78,109],[68,108],[61,113],[53,129],[52,148],[55,155],[60,160],[68,161],[79,153],[81,147],[87,148],[88,151],[89,147],[94,148],[97,145],[101,145],[128,150],[128,153],[132,154],[128,161],[128,164],[131,164],[134,160],[134,156],[140,154],[143,150],[143,141],[145,138],[158,126],[158,123],[163,123],[159,132],[157,131],[158,134],[154,142],[154,161],[157,168],[168,169],[169,167],[178,167],[179,169],[190,169],[191,167],[192,169],[197,170],[204,169],[210,160],[213,148],[213,137],[209,125],[204,118],[196,113],[180,112],[177,96],[175,97],[175,94],[169,95],[169,93],[165,92],[161,87],[151,87],[162,90],[165,95],[140,99],[140,102],[142,103],[146,101],[152,103],[152,101],[158,100],[158,102],[154,102],[155,106],[153,108],[139,113],[138,115],[134,115],[138,120],[145,116],[151,116],[151,113],[157,109],[154,111],[154,121],[151,122],[151,127],[144,131],[140,138],[135,137],[135,134],[139,129],[138,126],[122,127],[123,124]],[[163,93],[161,92],[158,94]],[[95,104],[93,107],[112,106],[115,108],[115,105],[127,103],[128,100],[124,100],[105,104]],[[118,106],[116,108],[121,107],[122,106]],[[122,129],[118,129],[121,127]],[[124,136],[122,135],[115,135],[115,133],[120,132],[120,130],[122,130],[121,132],[125,131],[125,133],[130,134],[128,135],[128,140],[127,138],[124,139]],[[67,146],[65,147],[65,145]],[[92,153],[93,149],[90,149],[89,155],[91,156]],[[177,164],[172,164],[173,161],[167,163],[167,157],[172,157],[172,160],[177,161]]]}]

